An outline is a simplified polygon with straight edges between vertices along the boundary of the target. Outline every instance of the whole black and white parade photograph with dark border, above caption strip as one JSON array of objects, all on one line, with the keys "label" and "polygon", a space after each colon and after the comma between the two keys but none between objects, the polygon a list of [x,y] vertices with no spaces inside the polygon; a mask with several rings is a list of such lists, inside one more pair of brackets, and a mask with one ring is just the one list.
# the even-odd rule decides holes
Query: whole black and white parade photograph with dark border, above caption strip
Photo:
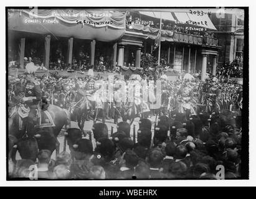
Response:
[{"label": "whole black and white parade photograph with dark border, above caption strip", "polygon": [[6,179],[249,179],[248,12],[6,7]]}]

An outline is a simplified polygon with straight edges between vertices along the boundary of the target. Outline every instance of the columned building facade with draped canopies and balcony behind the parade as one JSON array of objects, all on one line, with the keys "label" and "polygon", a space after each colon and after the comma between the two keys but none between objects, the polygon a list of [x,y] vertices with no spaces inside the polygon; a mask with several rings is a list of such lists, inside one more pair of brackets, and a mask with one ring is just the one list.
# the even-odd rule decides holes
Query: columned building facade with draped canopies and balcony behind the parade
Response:
[{"label": "columned building facade with draped canopies and balcony behind the parade", "polygon": [[[161,59],[180,72],[200,71],[202,79],[206,72],[215,75],[221,49],[219,40],[203,34],[216,31],[211,19],[207,14],[199,17],[174,10],[31,12],[10,9],[8,46],[16,49],[12,53],[16,52],[21,68],[24,68],[24,57],[32,54],[41,57],[44,66],[49,68],[50,62],[59,60],[72,65],[74,57],[79,57],[81,52],[90,65],[98,64],[104,55],[111,65],[140,68],[142,53],[158,56],[158,50],[153,48],[161,22]],[[238,44],[239,37],[235,38],[234,42]],[[36,49],[36,52],[31,52],[31,49]],[[211,60],[210,65],[207,60]]]}]

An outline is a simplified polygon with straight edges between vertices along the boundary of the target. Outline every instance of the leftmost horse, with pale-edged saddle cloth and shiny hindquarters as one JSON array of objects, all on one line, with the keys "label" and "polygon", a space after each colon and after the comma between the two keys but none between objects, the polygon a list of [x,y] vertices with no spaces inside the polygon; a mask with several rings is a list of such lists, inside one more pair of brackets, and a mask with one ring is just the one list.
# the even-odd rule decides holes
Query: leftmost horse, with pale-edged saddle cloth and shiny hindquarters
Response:
[{"label": "leftmost horse, with pale-edged saddle cloth and shiny hindquarters", "polygon": [[[37,141],[39,141],[40,143],[45,143],[47,145],[46,141],[44,141],[45,136],[42,136],[42,134],[44,134],[45,132],[47,132],[50,135],[50,137],[54,139],[56,154],[59,154],[60,143],[57,140],[57,136],[59,135],[64,125],[66,127],[70,125],[69,111],[67,111],[67,109],[62,109],[59,106],[50,104],[47,111],[52,117],[52,121],[54,125],[34,126],[34,128],[32,128],[31,131],[27,131],[29,118],[27,116],[24,116],[24,118],[21,118],[21,116],[17,111],[18,110],[17,106],[18,105],[16,105],[16,109],[9,116],[9,143],[11,143],[12,146],[16,146],[16,147],[9,146],[9,149],[11,150],[9,151],[9,158],[15,161],[16,152],[17,150],[20,150],[20,149],[17,149],[17,144],[22,140],[26,139],[27,137],[35,137]],[[41,145],[39,144],[39,150],[43,149],[40,146],[42,146],[42,144]],[[53,152],[53,150],[51,152]]]}]

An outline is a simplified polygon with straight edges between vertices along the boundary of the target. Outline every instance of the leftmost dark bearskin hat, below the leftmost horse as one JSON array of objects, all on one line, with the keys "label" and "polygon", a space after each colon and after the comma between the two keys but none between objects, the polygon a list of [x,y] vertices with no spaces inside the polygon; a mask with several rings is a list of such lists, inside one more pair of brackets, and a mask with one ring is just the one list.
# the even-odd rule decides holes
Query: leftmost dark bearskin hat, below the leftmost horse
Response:
[{"label": "leftmost dark bearskin hat, below the leftmost horse", "polygon": [[36,162],[39,147],[34,137],[27,137],[17,142],[17,150],[21,155],[21,159],[30,159]]}]

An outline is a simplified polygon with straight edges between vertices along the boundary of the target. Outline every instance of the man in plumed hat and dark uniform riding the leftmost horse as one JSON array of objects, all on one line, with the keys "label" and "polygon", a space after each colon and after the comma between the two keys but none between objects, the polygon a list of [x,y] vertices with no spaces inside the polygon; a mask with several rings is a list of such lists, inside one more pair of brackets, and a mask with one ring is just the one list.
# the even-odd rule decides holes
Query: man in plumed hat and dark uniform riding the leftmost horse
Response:
[{"label": "man in plumed hat and dark uniform riding the leftmost horse", "polygon": [[40,109],[39,103],[42,99],[42,90],[39,82],[37,82],[33,77],[27,76],[26,80],[27,85],[25,88],[25,97],[22,98],[22,101],[24,101],[30,109],[27,118],[27,131],[30,131],[34,125],[37,124],[37,114]]}]

